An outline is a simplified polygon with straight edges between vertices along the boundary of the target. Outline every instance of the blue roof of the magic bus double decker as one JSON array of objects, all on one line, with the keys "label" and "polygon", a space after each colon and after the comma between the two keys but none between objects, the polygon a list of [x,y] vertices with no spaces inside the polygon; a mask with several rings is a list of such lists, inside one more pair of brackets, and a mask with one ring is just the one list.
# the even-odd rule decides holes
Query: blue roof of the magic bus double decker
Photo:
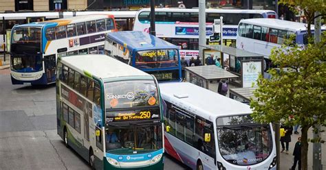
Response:
[{"label": "blue roof of the magic bus double decker", "polygon": [[146,32],[109,32],[108,38],[124,45],[126,44],[131,51],[141,51],[144,49],[178,49],[177,46],[157,38]]}]

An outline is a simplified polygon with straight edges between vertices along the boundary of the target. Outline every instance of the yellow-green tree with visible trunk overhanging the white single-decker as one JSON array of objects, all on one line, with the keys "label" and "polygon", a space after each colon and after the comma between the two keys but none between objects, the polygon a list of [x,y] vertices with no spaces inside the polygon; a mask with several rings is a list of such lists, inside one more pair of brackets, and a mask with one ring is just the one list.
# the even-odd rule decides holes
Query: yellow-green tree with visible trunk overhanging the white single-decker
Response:
[{"label": "yellow-green tree with visible trunk overhanging the white single-decker", "polygon": [[[303,170],[307,169],[309,127],[326,126],[325,36],[322,36],[322,42],[308,44],[305,49],[283,45],[272,51],[270,59],[279,69],[268,71],[272,75],[270,80],[259,77],[258,88],[254,92],[257,99],[250,101],[255,121],[269,123],[281,120],[287,125],[301,125]],[[289,119],[290,115],[294,119]]]}]

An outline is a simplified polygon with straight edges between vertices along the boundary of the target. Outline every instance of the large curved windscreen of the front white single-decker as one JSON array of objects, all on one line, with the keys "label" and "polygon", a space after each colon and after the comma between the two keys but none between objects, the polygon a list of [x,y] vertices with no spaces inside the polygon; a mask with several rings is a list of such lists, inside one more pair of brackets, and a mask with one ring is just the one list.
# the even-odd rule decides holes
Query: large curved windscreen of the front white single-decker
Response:
[{"label": "large curved windscreen of the front white single-decker", "polygon": [[217,118],[217,135],[221,156],[233,165],[255,165],[272,152],[270,125],[250,115]]}]

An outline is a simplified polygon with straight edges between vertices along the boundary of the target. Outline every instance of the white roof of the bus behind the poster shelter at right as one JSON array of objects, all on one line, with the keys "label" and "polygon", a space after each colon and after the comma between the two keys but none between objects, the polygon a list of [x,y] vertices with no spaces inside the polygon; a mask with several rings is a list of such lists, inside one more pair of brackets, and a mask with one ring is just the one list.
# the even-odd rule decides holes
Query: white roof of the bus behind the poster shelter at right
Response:
[{"label": "white roof of the bus behind the poster shelter at right", "polygon": [[[263,27],[272,27],[276,29],[289,30],[292,32],[305,31],[307,30],[307,24],[297,23],[292,21],[285,21],[281,19],[243,19],[240,23],[248,23],[252,25],[259,25]],[[312,25],[312,30],[314,25]]]}]

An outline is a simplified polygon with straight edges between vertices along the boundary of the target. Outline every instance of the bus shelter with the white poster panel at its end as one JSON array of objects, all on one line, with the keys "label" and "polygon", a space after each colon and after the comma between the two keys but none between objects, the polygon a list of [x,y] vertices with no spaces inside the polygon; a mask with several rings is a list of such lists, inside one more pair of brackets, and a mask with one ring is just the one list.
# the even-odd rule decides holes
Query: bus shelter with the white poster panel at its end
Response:
[{"label": "bus shelter with the white poster panel at its end", "polygon": [[251,87],[259,74],[263,75],[264,60],[261,54],[224,45],[203,45],[202,47],[204,47],[204,64],[208,64],[208,58],[218,60],[222,68],[239,75],[240,79],[235,81],[239,87]]}]

